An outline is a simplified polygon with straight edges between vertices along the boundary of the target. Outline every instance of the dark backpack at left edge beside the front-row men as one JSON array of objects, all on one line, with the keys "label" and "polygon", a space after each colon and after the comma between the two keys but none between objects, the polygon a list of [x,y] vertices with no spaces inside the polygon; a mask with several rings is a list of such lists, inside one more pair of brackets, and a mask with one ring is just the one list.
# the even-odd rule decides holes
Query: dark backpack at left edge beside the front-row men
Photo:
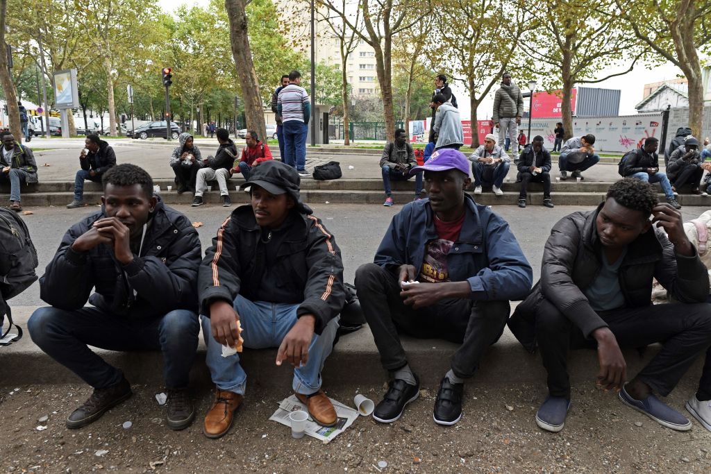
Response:
[{"label": "dark backpack at left edge beside the front-row men", "polygon": [[0,328],[5,315],[10,323],[6,331],[0,330],[0,339],[5,338],[13,326],[17,329],[17,335],[3,345],[22,338],[22,328],[12,321],[7,300],[22,293],[37,280],[37,264],[37,250],[25,222],[16,212],[0,208]]}]

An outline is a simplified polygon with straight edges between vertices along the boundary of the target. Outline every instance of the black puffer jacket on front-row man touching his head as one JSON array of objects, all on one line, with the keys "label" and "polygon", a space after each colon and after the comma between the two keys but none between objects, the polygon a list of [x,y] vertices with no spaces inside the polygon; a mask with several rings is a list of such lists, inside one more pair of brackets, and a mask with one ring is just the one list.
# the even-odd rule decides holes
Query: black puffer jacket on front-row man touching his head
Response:
[{"label": "black puffer jacket on front-row man touching his head", "polygon": [[[553,226],[545,243],[541,278],[518,305],[508,325],[528,350],[535,350],[535,313],[543,298],[577,325],[585,337],[607,324],[590,307],[583,291],[599,274],[602,244],[595,220],[602,208],[573,212]],[[699,259],[683,257],[665,233],[651,228],[629,244],[619,269],[627,307],[651,305],[652,279],[683,303],[703,303],[709,293],[707,269]]]}]

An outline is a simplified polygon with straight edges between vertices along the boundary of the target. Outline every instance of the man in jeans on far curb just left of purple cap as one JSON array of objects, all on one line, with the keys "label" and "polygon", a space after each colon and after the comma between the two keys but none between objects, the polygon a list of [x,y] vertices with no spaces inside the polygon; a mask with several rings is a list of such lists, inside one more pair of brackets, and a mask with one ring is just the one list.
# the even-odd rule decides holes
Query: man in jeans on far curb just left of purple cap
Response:
[{"label": "man in jeans on far curb just left of purple cap", "polygon": [[[392,200],[390,180],[407,181],[412,178],[410,170],[417,166],[415,151],[407,143],[407,132],[403,129],[395,130],[395,141],[385,145],[383,156],[380,157],[380,171],[383,173],[383,188],[385,188],[384,206],[395,204]],[[415,173],[415,200],[422,193],[422,173]]]}]

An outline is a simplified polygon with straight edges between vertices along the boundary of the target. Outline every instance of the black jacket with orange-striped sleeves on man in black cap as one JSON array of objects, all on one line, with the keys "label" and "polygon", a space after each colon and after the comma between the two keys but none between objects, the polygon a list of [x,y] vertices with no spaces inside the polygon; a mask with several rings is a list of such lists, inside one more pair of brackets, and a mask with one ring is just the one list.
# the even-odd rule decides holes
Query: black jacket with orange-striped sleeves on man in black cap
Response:
[{"label": "black jacket with orange-striped sleeves on man in black cap", "polygon": [[[310,212],[310,210],[309,210]],[[201,313],[242,295],[250,301],[299,304],[298,316],[316,316],[316,334],[346,300],[341,250],[317,217],[292,211],[262,235],[250,205],[235,209],[205,252],[198,276]]]}]

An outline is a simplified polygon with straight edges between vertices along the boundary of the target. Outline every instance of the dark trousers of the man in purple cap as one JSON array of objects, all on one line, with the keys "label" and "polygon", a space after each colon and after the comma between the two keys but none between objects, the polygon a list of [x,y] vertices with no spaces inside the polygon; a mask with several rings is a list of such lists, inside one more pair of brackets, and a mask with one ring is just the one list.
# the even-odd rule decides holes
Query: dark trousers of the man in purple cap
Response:
[{"label": "dark trousers of the man in purple cap", "polygon": [[407,364],[400,333],[419,339],[444,339],[460,343],[451,360],[454,375],[474,375],[483,353],[496,343],[508,319],[508,301],[473,301],[457,298],[439,301],[418,310],[405,305],[400,284],[376,264],[361,265],[355,272],[360,307],[373,332],[385,370]]}]

